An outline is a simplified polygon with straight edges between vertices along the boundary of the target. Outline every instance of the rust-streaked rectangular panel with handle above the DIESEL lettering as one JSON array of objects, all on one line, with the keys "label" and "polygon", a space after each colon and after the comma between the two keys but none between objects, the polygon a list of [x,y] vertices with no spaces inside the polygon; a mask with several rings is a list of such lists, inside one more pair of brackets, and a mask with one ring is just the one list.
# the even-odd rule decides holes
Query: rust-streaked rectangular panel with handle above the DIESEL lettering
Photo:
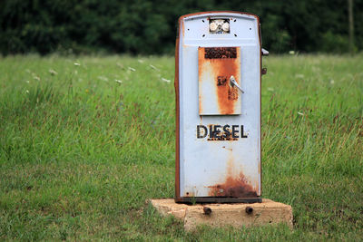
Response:
[{"label": "rust-streaked rectangular panel with handle above the DIESEL lettering", "polygon": [[240,83],[240,47],[200,47],[198,53],[200,114],[240,114],[240,93],[230,83],[231,76]]}]

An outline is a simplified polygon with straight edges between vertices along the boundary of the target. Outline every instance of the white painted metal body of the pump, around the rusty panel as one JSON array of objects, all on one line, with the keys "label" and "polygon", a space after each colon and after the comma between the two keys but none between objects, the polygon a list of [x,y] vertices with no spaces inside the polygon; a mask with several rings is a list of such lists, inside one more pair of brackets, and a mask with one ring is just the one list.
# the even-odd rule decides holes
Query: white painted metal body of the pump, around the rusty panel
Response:
[{"label": "white painted metal body of the pump, around the rusty panel", "polygon": [[[211,18],[230,20],[231,33],[210,34]],[[260,196],[260,23],[255,15],[216,12],[181,18],[179,26],[179,194],[177,197],[226,196],[233,179]],[[239,47],[238,106],[234,115],[200,115],[199,47]],[[204,98],[208,98],[205,97]],[[211,99],[214,97],[211,96]],[[238,125],[238,139],[197,137],[198,125]],[[243,126],[243,131],[241,130]],[[202,130],[205,131],[205,130]],[[208,130],[210,131],[210,130]],[[241,136],[247,138],[241,138]],[[230,181],[230,185],[223,185]],[[238,182],[237,182],[238,183]],[[237,184],[236,183],[236,184]],[[227,186],[227,187],[226,187]],[[179,196],[178,196],[179,195]],[[236,197],[240,195],[234,194]],[[227,195],[235,197],[233,194]]]}]

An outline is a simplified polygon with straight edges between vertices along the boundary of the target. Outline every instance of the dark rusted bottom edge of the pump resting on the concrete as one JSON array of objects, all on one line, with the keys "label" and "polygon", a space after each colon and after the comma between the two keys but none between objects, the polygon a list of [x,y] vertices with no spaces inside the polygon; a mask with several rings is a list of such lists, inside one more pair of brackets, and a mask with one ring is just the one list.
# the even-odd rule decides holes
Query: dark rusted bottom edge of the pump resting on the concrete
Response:
[{"label": "dark rusted bottom edge of the pump resting on the concrete", "polygon": [[175,198],[176,203],[256,203],[262,202],[262,198],[221,198],[221,197],[194,197]]}]

